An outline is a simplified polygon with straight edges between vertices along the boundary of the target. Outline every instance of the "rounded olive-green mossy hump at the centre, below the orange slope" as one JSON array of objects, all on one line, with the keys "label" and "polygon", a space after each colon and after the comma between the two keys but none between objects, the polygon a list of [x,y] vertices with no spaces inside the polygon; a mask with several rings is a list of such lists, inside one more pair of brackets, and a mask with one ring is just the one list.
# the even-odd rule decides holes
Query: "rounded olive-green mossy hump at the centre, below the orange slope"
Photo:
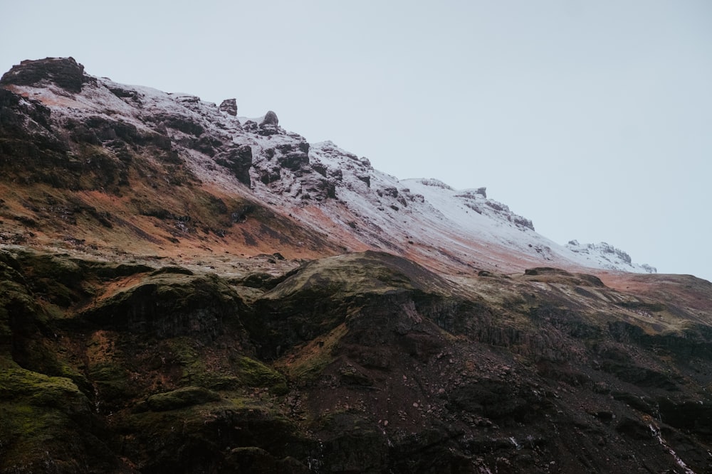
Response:
[{"label": "rounded olive-green mossy hump at the centre, below the orange slope", "polygon": [[308,262],[253,305],[244,318],[258,354],[273,360],[296,345],[322,338],[358,308],[374,300],[412,299],[434,306],[449,298],[451,285],[401,257],[363,252]]}]

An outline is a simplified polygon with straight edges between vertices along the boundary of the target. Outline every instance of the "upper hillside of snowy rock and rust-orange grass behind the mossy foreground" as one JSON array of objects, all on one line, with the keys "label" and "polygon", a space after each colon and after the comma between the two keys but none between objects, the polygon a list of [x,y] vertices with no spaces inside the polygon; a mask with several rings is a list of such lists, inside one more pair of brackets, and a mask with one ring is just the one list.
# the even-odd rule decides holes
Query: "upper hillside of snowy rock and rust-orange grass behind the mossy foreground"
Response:
[{"label": "upper hillside of snowy rock and rust-orange grass behind the mossy foreground", "polygon": [[24,61],[0,85],[5,242],[170,257],[381,249],[449,273],[651,270],[557,245],[484,188],[399,181],[286,132],[274,112],[239,119],[234,99],[120,85],[71,58]]}]

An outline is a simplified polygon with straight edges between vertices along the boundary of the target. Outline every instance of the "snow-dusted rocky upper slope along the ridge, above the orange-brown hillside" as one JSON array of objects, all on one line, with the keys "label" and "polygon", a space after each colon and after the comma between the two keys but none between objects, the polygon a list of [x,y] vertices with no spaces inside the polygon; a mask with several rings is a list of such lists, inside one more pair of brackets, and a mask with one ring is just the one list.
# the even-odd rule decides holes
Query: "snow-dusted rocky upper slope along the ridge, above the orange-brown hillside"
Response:
[{"label": "snow-dusted rocky upper slope along the ridge, above the orange-brown hillside", "polygon": [[527,218],[488,199],[485,188],[401,181],[330,141],[308,144],[279,126],[274,112],[236,117],[232,99],[217,106],[194,95],[85,75],[71,58],[45,61],[14,68],[3,87],[40,101],[71,134],[109,147],[125,134],[135,146],[168,153],[202,185],[258,200],[295,225],[328,235],[344,251],[383,249],[456,271],[654,271],[607,244],[556,244]]}]

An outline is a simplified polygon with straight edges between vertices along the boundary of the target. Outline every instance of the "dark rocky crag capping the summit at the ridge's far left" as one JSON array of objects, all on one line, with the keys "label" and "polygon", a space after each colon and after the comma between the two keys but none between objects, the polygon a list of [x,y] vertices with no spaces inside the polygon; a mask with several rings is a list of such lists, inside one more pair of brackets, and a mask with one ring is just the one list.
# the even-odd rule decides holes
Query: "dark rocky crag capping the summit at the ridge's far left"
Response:
[{"label": "dark rocky crag capping the summit at the ridge's far left", "polygon": [[84,66],[74,58],[45,58],[24,60],[14,65],[0,78],[0,85],[32,85],[39,87],[46,81],[68,92],[81,92],[82,85],[92,79],[84,75]]}]

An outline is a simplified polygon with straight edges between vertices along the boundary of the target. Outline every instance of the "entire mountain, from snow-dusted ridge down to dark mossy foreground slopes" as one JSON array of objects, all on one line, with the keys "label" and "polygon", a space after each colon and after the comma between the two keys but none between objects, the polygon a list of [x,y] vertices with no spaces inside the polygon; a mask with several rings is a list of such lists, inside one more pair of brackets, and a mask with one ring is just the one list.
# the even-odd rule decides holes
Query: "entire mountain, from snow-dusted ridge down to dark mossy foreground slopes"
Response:
[{"label": "entire mountain, from snow-dusted ridge down to dark mossy foreground slopes", "polygon": [[0,473],[712,473],[712,284],[238,101],[0,80]]}]

